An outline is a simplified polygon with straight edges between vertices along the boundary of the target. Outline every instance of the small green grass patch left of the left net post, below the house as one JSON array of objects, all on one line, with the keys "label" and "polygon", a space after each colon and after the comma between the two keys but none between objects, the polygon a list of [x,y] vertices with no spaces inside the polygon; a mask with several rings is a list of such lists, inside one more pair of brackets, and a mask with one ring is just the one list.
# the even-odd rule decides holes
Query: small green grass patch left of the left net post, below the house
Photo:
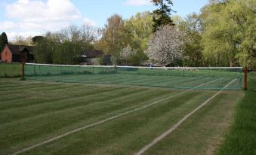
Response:
[{"label": "small green grass patch left of the left net post, below the house", "polygon": [[0,78],[21,77],[20,63],[0,63]]}]

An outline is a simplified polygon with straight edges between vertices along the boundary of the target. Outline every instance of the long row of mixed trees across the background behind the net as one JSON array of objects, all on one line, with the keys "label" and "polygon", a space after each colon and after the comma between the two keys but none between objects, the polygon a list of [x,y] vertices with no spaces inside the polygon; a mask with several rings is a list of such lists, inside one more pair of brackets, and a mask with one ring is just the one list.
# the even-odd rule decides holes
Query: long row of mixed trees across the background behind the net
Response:
[{"label": "long row of mixed trees across the background behind the net", "polygon": [[82,50],[103,50],[115,65],[255,66],[254,0],[210,0],[184,18],[171,16],[171,0],[152,2],[155,11],[113,14],[103,28],[69,26],[26,42],[41,63],[78,64]]}]

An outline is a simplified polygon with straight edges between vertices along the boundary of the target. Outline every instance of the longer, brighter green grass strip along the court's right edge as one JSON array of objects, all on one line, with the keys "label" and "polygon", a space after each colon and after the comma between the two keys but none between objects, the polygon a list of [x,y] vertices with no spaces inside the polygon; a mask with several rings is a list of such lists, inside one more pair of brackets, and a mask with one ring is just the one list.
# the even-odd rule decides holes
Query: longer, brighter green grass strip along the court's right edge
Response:
[{"label": "longer, brighter green grass strip along the court's right edge", "polygon": [[245,97],[236,106],[234,122],[222,145],[220,155],[256,154],[256,74],[248,79]]}]

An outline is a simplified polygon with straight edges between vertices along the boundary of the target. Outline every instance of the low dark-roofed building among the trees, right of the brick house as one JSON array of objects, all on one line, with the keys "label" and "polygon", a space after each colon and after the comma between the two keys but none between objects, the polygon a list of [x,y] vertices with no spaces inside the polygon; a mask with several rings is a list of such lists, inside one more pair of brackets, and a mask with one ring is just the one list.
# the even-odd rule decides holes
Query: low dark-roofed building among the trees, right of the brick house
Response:
[{"label": "low dark-roofed building among the trees, right of the brick house", "polygon": [[99,59],[104,56],[101,50],[85,50],[82,52],[82,61],[86,65],[100,65]]}]

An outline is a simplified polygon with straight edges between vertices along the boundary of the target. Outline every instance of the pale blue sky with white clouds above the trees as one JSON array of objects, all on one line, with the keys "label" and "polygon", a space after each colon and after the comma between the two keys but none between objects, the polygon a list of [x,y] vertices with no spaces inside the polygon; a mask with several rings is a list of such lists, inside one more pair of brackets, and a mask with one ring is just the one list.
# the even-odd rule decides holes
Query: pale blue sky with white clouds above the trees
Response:
[{"label": "pale blue sky with white clouds above the trees", "polygon": [[[208,0],[173,0],[172,9],[186,17]],[[6,32],[12,40],[20,35],[43,35],[56,32],[69,25],[103,27],[108,17],[119,14],[128,19],[137,12],[153,11],[150,0],[1,0],[0,33]]]}]

